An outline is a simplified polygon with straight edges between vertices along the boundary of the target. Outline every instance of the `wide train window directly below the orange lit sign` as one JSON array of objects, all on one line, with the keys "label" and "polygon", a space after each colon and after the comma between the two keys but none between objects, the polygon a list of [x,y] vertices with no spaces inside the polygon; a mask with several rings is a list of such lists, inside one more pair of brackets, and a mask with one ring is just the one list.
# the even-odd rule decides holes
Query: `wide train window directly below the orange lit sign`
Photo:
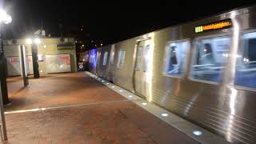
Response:
[{"label": "wide train window directly below the orange lit sign", "polygon": [[195,42],[195,49],[191,77],[203,81],[219,82],[230,53],[230,38],[201,38]]}]

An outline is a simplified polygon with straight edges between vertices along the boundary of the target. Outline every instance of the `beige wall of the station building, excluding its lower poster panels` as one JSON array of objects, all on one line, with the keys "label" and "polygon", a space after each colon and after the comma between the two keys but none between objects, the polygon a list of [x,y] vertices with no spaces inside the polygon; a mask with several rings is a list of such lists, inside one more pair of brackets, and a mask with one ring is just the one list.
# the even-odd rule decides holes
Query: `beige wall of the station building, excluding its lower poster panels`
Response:
[{"label": "beige wall of the station building, excluding its lower poster panels", "polygon": [[[59,46],[68,43],[70,44],[69,47]],[[26,44],[26,39],[18,39],[15,44],[11,40],[7,40],[4,42],[5,57],[18,57],[18,45],[26,45],[28,55],[32,55],[31,45]],[[46,69],[46,55],[70,54],[71,72],[77,71],[74,38],[64,38],[64,42],[61,42],[60,38],[41,38],[41,43],[38,45],[38,55],[39,54],[43,55],[43,61],[38,62],[40,75],[48,74]]]}]

